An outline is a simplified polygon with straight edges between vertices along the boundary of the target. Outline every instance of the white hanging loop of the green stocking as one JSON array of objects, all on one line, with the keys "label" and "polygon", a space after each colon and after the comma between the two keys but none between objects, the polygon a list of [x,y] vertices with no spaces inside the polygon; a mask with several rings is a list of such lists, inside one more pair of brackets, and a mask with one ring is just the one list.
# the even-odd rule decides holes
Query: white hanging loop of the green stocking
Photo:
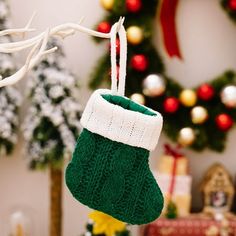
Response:
[{"label": "white hanging loop of the green stocking", "polygon": [[[120,27],[117,30],[117,27]],[[116,35],[118,33],[120,40],[120,61],[119,73],[117,71],[117,50],[116,50]],[[111,90],[113,95],[124,96],[125,80],[126,80],[126,65],[127,65],[127,37],[123,25],[114,24],[111,28]],[[118,85],[118,86],[117,86]]]}]

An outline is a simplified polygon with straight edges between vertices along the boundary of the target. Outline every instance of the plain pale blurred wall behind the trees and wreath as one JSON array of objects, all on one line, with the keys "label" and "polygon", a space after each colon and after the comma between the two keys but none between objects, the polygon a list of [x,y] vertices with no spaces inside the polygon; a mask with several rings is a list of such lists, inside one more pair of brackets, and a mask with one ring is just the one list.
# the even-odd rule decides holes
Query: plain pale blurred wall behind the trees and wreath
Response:
[{"label": "plain pale blurred wall behind the trees and wreath", "polygon": [[[44,30],[64,22],[78,22],[85,17],[83,25],[93,27],[103,14],[99,0],[10,0],[14,27],[26,24],[33,11],[37,17],[33,26]],[[177,28],[182,62],[167,58],[160,42],[161,35],[156,27],[155,43],[166,63],[168,75],[176,78],[186,87],[214,78],[226,69],[236,69],[236,31],[233,23],[220,8],[218,0],[182,0],[178,9]],[[86,87],[96,60],[105,47],[97,46],[87,35],[76,34],[64,42],[68,67],[78,76],[81,84],[80,97],[84,105],[90,91]],[[19,56],[19,63],[20,63]],[[24,91],[24,82],[19,85]],[[22,117],[23,117],[22,111]],[[22,140],[22,138],[21,138]],[[199,181],[205,170],[214,162],[223,163],[235,176],[236,130],[232,131],[223,154],[205,151],[201,154],[185,151],[190,159],[193,175],[193,206],[201,207],[198,192]],[[156,168],[165,137],[152,154],[151,166]],[[13,156],[0,158],[0,235],[9,212],[15,207],[30,208],[35,215],[38,236],[46,236],[48,231],[48,173],[29,172],[26,157],[20,141]],[[64,190],[64,235],[76,236],[83,232],[89,209],[76,202],[65,187]],[[5,235],[4,235],[5,236]]]}]

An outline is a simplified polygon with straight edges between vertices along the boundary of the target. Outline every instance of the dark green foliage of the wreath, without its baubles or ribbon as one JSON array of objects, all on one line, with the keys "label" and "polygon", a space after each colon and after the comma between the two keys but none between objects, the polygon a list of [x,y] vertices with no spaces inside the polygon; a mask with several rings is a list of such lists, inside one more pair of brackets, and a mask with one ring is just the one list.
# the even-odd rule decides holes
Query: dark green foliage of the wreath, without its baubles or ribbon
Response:
[{"label": "dark green foliage of the wreath, without its baubles or ribbon", "polygon": [[[114,1],[114,7],[111,11],[107,12],[102,21],[108,21],[110,24],[115,23],[119,16],[125,16],[125,27],[131,25],[139,26],[144,32],[144,40],[137,46],[128,46],[128,68],[127,68],[127,80],[126,80],[126,95],[130,96],[133,93],[142,94],[142,82],[144,78],[149,74],[161,74],[166,81],[166,91],[163,96],[150,98],[145,97],[146,106],[158,110],[164,116],[164,131],[167,136],[177,142],[180,129],[184,127],[191,127],[195,130],[196,140],[190,148],[195,151],[202,151],[206,148],[222,152],[225,148],[227,132],[219,130],[215,123],[215,117],[220,113],[229,114],[234,121],[236,121],[236,109],[228,109],[220,100],[220,92],[222,88],[229,84],[236,84],[236,75],[233,71],[228,71],[220,75],[219,77],[207,81],[215,89],[215,96],[211,101],[204,102],[198,100],[196,105],[203,106],[209,113],[209,119],[207,122],[201,125],[194,125],[190,112],[192,108],[180,106],[179,110],[174,114],[167,114],[163,109],[163,102],[166,97],[174,96],[179,97],[180,92],[184,89],[184,86],[179,84],[172,78],[168,78],[165,75],[163,62],[152,43],[154,33],[154,18],[157,12],[158,6],[157,0],[142,1],[142,9],[137,13],[129,13],[125,7],[125,0]],[[222,1],[223,6],[228,8],[228,1]],[[229,10],[230,11],[230,10]],[[231,16],[235,17],[236,12],[230,11]],[[101,40],[98,40],[101,42]],[[108,48],[108,47],[107,47]],[[131,58],[135,54],[144,54],[148,60],[148,69],[145,72],[138,72],[130,65]],[[105,53],[105,56],[98,62],[93,76],[91,78],[90,87],[95,89],[100,86],[102,82],[108,83],[110,81],[110,59],[109,51]],[[196,90],[197,88],[195,88]]]}]

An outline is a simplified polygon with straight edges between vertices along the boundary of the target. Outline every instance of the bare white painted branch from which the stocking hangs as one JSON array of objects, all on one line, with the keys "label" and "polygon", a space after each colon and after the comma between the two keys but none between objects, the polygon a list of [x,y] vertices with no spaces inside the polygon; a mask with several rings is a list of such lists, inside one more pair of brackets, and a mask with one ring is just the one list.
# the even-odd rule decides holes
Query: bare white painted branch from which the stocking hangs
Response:
[{"label": "bare white painted branch from which the stocking hangs", "polygon": [[[33,30],[33,29],[30,29],[30,25],[32,23],[33,18],[34,18],[34,15],[31,17],[30,21],[24,28],[8,29],[8,30],[0,31],[0,36],[14,35],[14,34],[22,34],[24,36],[26,32],[30,32]],[[124,18],[120,18],[117,23],[117,32],[119,31],[123,23],[124,23]],[[30,47],[33,47],[33,48],[27,57],[25,65],[22,66],[15,74],[4,79],[2,79],[2,77],[0,76],[0,79],[2,79],[0,80],[0,87],[15,84],[16,82],[21,80],[27,74],[29,70],[31,70],[34,66],[36,66],[40,62],[43,56],[54,52],[57,48],[46,50],[46,46],[50,37],[59,36],[64,39],[70,35],[75,34],[76,32],[83,32],[83,33],[86,33],[95,37],[100,37],[100,38],[111,37],[110,33],[107,33],[107,34],[100,33],[100,32],[88,29],[84,26],[81,26],[80,23],[78,24],[66,23],[66,24],[58,25],[52,28],[51,30],[47,29],[46,31],[40,33],[39,35],[30,39],[27,39],[27,40],[22,40],[19,42],[1,43],[0,52],[2,53],[13,53],[13,52],[22,51]]]}]

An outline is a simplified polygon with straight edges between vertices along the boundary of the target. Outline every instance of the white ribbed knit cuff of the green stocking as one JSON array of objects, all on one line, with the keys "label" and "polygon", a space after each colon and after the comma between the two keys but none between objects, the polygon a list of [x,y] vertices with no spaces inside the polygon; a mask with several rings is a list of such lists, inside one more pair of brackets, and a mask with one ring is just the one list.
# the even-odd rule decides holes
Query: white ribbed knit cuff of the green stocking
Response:
[{"label": "white ribbed knit cuff of the green stocking", "polygon": [[99,89],[91,95],[81,118],[82,126],[113,141],[154,150],[162,130],[161,114],[147,107],[156,115],[124,109],[105,100],[103,94],[111,91]]}]

